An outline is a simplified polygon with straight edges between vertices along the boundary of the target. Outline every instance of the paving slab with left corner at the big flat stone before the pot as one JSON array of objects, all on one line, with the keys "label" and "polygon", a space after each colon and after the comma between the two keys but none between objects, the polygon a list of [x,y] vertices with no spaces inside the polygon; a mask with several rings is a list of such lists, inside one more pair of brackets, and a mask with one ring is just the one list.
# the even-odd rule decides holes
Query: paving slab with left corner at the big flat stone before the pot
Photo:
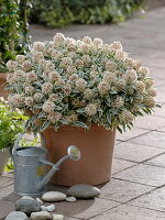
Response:
[{"label": "paving slab with left corner at the big flat stone before the pot", "polygon": [[102,186],[101,198],[112,199],[114,201],[127,202],[145,193],[153,190],[155,187],[144,186],[131,182],[112,179],[110,183]]}]

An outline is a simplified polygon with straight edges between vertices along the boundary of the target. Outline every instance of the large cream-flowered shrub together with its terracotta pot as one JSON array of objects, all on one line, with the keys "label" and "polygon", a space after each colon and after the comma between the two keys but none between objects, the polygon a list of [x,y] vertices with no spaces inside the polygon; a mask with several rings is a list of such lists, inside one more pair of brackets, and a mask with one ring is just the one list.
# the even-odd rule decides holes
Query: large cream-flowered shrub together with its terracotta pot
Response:
[{"label": "large cream-flowered shrub together with its terracotta pot", "polygon": [[36,42],[30,54],[7,64],[12,108],[30,117],[25,129],[46,136],[53,162],[69,144],[82,158],[66,162],[53,182],[102,184],[110,179],[116,130],[131,129],[155,107],[150,70],[122,51],[120,42],[65,37]]}]

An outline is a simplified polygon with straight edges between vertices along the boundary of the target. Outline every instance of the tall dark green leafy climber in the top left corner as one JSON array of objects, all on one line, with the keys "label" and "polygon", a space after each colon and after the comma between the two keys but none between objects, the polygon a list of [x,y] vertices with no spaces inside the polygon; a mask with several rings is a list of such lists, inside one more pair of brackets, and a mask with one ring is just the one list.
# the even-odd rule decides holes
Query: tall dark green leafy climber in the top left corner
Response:
[{"label": "tall dark green leafy climber in the top left corner", "polygon": [[0,72],[6,72],[6,62],[14,59],[18,53],[24,54],[29,51],[30,1],[0,1]]}]

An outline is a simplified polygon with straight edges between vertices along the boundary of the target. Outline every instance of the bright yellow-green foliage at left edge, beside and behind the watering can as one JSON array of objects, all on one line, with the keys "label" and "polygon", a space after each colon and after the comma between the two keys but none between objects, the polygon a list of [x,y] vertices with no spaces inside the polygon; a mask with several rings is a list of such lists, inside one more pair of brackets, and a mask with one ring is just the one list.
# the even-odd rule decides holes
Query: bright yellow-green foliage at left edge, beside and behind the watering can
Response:
[{"label": "bright yellow-green foliage at left edge, beside and behind the watering can", "polygon": [[[12,111],[4,99],[0,98],[0,150],[12,148],[19,133],[24,132],[24,123],[28,117],[23,116],[20,110]],[[21,139],[20,146],[37,146],[40,145],[38,136],[26,140]],[[10,158],[6,172],[13,169],[13,162]]]}]

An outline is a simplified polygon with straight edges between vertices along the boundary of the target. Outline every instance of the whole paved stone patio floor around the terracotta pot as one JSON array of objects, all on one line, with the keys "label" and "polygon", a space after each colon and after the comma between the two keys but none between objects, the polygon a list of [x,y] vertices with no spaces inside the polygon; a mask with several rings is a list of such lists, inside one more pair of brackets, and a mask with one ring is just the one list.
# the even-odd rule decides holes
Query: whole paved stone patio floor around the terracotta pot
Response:
[{"label": "whole paved stone patio floor around the terracotta pot", "polygon": [[[139,118],[132,131],[117,134],[113,175],[95,200],[56,202],[56,213],[67,220],[164,220],[165,219],[165,4],[119,25],[74,25],[50,30],[32,25],[33,41],[50,40],[56,32],[67,36],[102,37],[123,43],[124,51],[143,61],[156,78],[162,109]],[[0,177],[0,219],[14,210],[12,175]]]}]

